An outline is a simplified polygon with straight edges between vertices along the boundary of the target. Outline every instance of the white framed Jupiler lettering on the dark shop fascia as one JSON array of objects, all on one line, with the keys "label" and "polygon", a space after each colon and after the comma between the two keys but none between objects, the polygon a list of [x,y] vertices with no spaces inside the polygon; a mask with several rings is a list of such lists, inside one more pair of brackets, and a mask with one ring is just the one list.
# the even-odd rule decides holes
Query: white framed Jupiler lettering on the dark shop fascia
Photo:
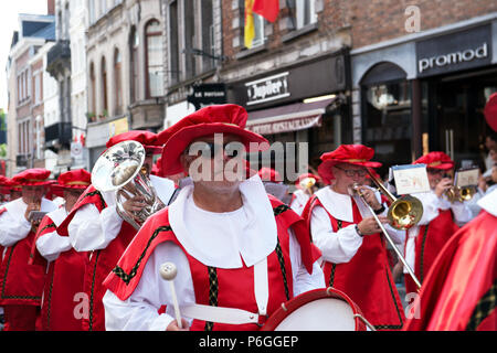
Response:
[{"label": "white framed Jupiler lettering on the dark shop fascia", "polygon": [[247,105],[288,97],[288,72],[245,84]]}]

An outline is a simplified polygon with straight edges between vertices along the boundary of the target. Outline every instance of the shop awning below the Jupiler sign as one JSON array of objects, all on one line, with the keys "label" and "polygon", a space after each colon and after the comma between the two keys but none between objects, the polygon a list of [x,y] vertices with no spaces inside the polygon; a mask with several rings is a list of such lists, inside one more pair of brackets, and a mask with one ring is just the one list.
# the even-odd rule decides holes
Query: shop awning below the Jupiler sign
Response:
[{"label": "shop awning below the Jupiler sign", "polygon": [[304,130],[321,126],[326,107],[336,98],[295,103],[282,107],[248,113],[246,129],[261,135]]}]

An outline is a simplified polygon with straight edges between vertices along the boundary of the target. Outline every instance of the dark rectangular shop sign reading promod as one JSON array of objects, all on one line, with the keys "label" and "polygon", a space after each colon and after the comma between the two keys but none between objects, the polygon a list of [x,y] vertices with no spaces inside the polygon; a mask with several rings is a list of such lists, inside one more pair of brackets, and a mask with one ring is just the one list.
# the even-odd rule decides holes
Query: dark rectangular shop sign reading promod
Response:
[{"label": "dark rectangular shop sign reading promod", "polygon": [[491,26],[478,26],[416,43],[417,76],[445,74],[491,63]]}]

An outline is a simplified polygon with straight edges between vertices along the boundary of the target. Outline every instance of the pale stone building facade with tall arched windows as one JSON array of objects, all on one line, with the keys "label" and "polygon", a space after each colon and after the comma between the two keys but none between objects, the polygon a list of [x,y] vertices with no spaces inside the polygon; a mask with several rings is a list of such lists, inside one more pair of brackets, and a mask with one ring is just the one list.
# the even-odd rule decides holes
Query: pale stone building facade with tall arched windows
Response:
[{"label": "pale stone building facade with tall arched windows", "polygon": [[87,0],[87,138],[89,165],[107,140],[163,124],[163,17],[159,0]]}]

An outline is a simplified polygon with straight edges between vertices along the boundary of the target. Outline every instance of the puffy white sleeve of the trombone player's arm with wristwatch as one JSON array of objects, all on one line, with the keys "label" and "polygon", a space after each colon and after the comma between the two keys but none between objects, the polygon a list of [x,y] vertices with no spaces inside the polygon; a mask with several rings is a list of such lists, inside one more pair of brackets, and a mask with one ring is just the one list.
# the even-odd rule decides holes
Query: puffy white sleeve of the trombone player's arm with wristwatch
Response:
[{"label": "puffy white sleeve of the trombone player's arm with wristwatch", "polygon": [[313,243],[321,250],[322,259],[334,263],[348,263],[362,245],[362,237],[356,226],[349,225],[334,232],[331,220],[321,206],[316,206],[310,215]]}]

